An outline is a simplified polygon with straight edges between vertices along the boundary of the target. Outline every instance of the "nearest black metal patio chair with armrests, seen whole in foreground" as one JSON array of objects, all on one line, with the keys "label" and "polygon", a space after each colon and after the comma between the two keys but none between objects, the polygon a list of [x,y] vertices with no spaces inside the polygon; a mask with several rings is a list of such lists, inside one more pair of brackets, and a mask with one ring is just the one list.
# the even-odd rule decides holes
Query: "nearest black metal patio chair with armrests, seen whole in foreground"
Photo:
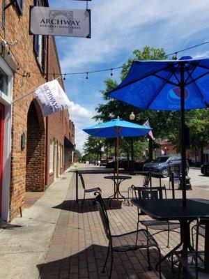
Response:
[{"label": "nearest black metal patio chair with armrests, seen whole in foreground", "polygon": [[[147,249],[148,252],[148,269],[150,269],[150,255],[148,248],[153,247],[156,248],[159,253],[159,262],[160,262],[160,248],[153,238],[146,229],[139,229],[134,232],[127,232],[126,234],[120,235],[112,235],[111,229],[109,227],[109,218],[107,215],[107,211],[104,206],[104,202],[100,193],[96,192],[94,195],[95,197],[94,203],[97,204],[98,210],[100,212],[100,218],[102,220],[102,225],[104,227],[104,232],[107,236],[109,241],[107,256],[104,262],[104,267],[102,269],[102,273],[104,273],[105,266],[107,264],[107,259],[109,253],[111,254],[111,268],[109,271],[109,278],[111,278],[111,271],[113,266],[113,252],[127,252],[127,251],[134,251],[139,249]],[[158,269],[161,277],[161,266]]]}]

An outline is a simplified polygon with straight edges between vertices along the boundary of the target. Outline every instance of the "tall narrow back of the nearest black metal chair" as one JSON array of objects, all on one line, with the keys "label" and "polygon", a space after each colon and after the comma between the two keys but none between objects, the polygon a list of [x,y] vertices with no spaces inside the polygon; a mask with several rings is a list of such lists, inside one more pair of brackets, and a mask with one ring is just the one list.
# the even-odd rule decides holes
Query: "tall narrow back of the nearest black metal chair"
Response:
[{"label": "tall narrow back of the nearest black metal chair", "polygon": [[105,209],[102,196],[100,195],[99,192],[95,192],[94,195],[97,195],[95,197],[94,204],[97,204],[97,206],[98,206],[98,211],[100,212],[100,218],[102,219],[102,225],[104,227],[104,232],[107,236],[107,239],[110,240],[111,239],[111,232],[110,232],[110,229],[109,229],[109,218],[107,216],[107,211]]}]

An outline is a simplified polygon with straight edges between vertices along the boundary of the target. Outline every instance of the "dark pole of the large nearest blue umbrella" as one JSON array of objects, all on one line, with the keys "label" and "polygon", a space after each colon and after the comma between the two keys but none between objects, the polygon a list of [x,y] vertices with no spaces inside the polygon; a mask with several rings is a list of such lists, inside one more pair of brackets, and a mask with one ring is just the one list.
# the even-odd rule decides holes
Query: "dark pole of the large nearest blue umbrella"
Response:
[{"label": "dark pole of the large nearest blue umbrella", "polygon": [[181,183],[182,205],[187,206],[186,193],[186,144],[185,144],[185,76],[184,63],[180,62],[180,128],[181,128]]}]

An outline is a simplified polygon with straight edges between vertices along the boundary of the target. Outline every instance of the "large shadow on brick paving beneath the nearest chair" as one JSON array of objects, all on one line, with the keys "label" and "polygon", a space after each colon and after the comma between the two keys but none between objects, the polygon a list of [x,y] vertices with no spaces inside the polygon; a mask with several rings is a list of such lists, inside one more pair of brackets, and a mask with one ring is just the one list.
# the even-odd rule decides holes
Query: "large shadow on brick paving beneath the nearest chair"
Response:
[{"label": "large shadow on brick paving beneath the nearest chair", "polygon": [[[59,247],[57,247],[59,250]],[[107,279],[110,270],[110,257],[107,262],[106,273],[102,273],[102,267],[107,255],[107,247],[93,244],[77,252],[77,254],[63,259],[57,259],[45,264],[38,264],[40,279],[51,278],[102,278]],[[47,257],[56,258],[56,248],[53,253],[49,252]],[[146,249],[131,252],[114,252],[114,265],[111,278],[140,278],[154,279],[159,278],[155,271],[155,264],[158,259],[157,251],[150,249],[150,261],[153,266],[152,271],[148,271]],[[162,266],[164,278],[171,277],[171,267],[167,261]],[[170,274],[170,275],[169,275]]]}]

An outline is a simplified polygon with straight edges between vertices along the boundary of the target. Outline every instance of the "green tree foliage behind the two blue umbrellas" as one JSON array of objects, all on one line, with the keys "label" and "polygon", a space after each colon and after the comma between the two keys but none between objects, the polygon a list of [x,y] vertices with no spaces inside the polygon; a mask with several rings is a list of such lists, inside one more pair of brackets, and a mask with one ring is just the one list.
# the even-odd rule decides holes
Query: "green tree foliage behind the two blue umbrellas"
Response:
[{"label": "green tree foliage behind the two blue umbrellas", "polygon": [[[134,56],[123,64],[121,70],[121,80],[124,80],[132,62],[135,60],[157,60],[167,59],[164,49],[145,46],[143,50],[134,50]],[[172,59],[176,59],[173,56]],[[149,119],[150,126],[153,128],[153,136],[158,140],[169,140],[175,146],[177,151],[180,151],[180,112],[169,111],[152,111],[140,110],[132,105],[127,105],[119,100],[109,98],[109,91],[116,88],[118,85],[116,80],[111,78],[104,80],[105,89],[101,90],[102,97],[107,100],[107,103],[100,104],[96,107],[97,115],[94,119],[97,121],[109,121],[116,119],[117,116],[129,121],[131,112],[134,112],[136,118],[135,123],[143,124]],[[203,147],[209,144],[209,111],[208,110],[192,110],[185,112],[187,126],[189,126],[192,134],[192,149],[197,153],[203,151]],[[157,143],[154,142],[153,146]],[[110,144],[111,150],[114,150],[114,143]],[[93,144],[94,146],[94,144]],[[91,143],[87,141],[85,152],[92,151]],[[135,158],[140,158],[147,149],[147,139],[145,137],[134,140],[134,155]],[[121,140],[121,153],[130,155],[131,143],[130,139]]]}]

